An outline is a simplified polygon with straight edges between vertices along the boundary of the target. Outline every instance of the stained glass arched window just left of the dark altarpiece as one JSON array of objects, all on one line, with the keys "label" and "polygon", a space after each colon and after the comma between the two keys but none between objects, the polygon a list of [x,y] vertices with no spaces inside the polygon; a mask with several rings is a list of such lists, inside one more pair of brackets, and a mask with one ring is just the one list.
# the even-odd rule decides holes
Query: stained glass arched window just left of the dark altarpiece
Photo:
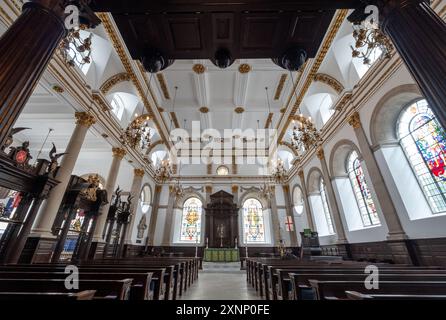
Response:
[{"label": "stained glass arched window just left of the dark altarpiece", "polygon": [[189,198],[183,205],[181,218],[180,241],[200,242],[201,240],[201,209],[203,204],[198,198]]}]

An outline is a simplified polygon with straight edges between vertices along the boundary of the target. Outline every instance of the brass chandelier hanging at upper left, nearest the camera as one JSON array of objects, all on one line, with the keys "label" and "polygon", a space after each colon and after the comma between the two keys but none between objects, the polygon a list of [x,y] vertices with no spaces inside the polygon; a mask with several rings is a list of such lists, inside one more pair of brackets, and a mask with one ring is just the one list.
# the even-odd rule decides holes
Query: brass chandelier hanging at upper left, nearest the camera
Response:
[{"label": "brass chandelier hanging at upper left, nearest the camera", "polygon": [[84,65],[91,63],[91,39],[93,33],[83,38],[81,31],[86,29],[87,26],[81,24],[78,28],[70,30],[59,44],[58,51],[65,63],[70,67],[78,66],[82,69]]}]

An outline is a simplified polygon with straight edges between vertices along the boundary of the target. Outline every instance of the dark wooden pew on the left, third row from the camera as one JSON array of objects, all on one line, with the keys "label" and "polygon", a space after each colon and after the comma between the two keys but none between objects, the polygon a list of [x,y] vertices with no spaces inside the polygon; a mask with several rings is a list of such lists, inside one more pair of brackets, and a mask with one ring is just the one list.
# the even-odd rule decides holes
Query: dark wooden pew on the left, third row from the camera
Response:
[{"label": "dark wooden pew on the left, third row from the camera", "polygon": [[[151,290],[153,273],[79,273],[79,280],[123,280],[132,279],[130,300],[153,300]],[[35,271],[0,271],[2,279],[66,279],[65,272],[35,272]]]}]

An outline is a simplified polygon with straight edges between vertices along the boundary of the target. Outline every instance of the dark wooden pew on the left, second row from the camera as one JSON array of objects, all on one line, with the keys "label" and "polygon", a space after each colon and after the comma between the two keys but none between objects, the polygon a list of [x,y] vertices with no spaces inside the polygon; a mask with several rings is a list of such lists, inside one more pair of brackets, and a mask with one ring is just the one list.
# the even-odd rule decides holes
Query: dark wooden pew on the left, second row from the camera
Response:
[{"label": "dark wooden pew on the left, second row from the camera", "polygon": [[79,280],[78,290],[67,290],[65,279],[0,279],[0,292],[76,293],[95,290],[95,299],[128,300],[132,279]]}]

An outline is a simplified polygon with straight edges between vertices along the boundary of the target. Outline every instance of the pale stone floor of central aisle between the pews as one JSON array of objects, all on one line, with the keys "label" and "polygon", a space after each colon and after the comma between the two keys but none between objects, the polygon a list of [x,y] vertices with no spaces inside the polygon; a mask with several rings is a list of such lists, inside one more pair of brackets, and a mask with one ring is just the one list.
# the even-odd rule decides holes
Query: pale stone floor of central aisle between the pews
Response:
[{"label": "pale stone floor of central aisle between the pews", "polygon": [[258,300],[255,289],[246,282],[240,263],[204,262],[198,280],[180,300]]}]

